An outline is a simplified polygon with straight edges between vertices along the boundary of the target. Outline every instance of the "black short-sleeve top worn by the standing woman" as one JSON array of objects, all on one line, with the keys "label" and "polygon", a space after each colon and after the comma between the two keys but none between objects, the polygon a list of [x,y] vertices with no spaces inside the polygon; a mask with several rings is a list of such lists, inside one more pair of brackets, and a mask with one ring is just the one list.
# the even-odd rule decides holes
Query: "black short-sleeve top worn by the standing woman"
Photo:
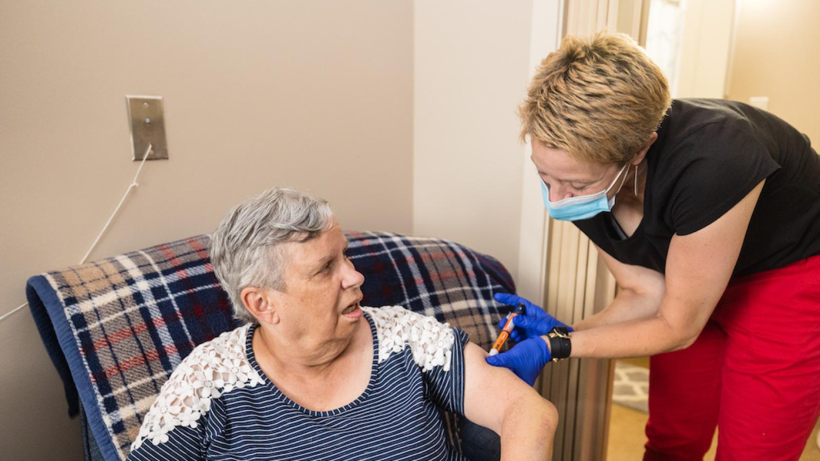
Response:
[{"label": "black short-sleeve top worn by the standing woman", "polygon": [[676,99],[646,168],[644,217],[632,235],[608,212],[575,221],[620,262],[663,273],[672,235],[713,223],[764,179],[733,276],[820,254],[820,156],[771,113],[722,99]]}]

